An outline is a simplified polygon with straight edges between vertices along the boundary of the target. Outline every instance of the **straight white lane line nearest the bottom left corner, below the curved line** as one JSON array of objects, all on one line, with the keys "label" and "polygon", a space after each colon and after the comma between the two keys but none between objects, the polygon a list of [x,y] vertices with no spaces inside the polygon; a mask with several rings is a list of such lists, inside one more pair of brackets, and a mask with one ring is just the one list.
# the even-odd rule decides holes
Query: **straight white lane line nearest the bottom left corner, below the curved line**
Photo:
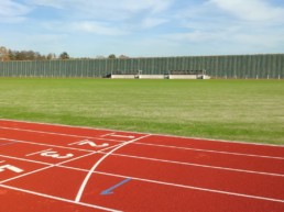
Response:
[{"label": "straight white lane line nearest the bottom left corner, below the curved line", "polygon": [[21,191],[21,192],[37,196],[37,197],[48,198],[48,199],[52,199],[52,200],[58,200],[58,201],[62,201],[62,202],[74,203],[74,204],[81,205],[81,207],[87,207],[87,208],[90,208],[90,209],[99,209],[99,210],[109,211],[109,212],[120,212],[119,210],[116,210],[116,209],[110,209],[110,208],[100,207],[100,205],[96,205],[96,204],[88,204],[88,203],[84,203],[84,202],[75,202],[73,200],[68,200],[68,199],[65,199],[65,198],[58,198],[58,197],[55,197],[55,196],[50,196],[50,194],[45,194],[45,193],[40,193],[40,192],[35,192],[35,191],[20,189],[20,188],[17,188],[17,187],[11,187],[11,186],[6,186],[6,185],[0,185],[0,187],[6,188],[6,189],[15,190],[15,191]]}]

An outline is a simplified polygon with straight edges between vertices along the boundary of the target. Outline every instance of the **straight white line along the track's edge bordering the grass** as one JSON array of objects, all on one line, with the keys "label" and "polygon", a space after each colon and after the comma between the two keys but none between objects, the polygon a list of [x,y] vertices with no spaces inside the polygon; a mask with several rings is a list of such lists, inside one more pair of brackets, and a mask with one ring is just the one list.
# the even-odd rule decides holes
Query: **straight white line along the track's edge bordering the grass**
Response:
[{"label": "straight white line along the track's edge bordering the grass", "polygon": [[[42,123],[42,122],[31,122],[31,121],[23,121],[23,120],[9,120],[9,119],[0,119],[2,122],[13,122],[18,124],[39,124],[39,125],[45,125],[45,126],[64,126],[69,129],[84,129],[84,130],[95,130],[95,131],[108,131],[108,132],[121,132],[121,133],[135,133],[140,135],[145,135],[150,133],[141,133],[141,132],[128,132],[128,131],[121,131],[121,130],[109,130],[109,129],[96,129],[90,126],[70,126],[66,124],[56,124],[56,123]],[[228,144],[243,144],[243,145],[256,145],[256,146],[271,146],[271,147],[280,147],[284,148],[284,145],[276,145],[276,144],[261,144],[261,143],[248,143],[248,142],[241,142],[241,141],[227,141],[227,140],[212,140],[212,138],[206,138],[206,137],[186,137],[186,136],[178,136],[178,135],[165,135],[165,134],[152,134],[157,135],[162,137],[179,137],[179,138],[186,138],[186,140],[201,140],[207,142],[221,142],[221,143],[228,143]]]}]

